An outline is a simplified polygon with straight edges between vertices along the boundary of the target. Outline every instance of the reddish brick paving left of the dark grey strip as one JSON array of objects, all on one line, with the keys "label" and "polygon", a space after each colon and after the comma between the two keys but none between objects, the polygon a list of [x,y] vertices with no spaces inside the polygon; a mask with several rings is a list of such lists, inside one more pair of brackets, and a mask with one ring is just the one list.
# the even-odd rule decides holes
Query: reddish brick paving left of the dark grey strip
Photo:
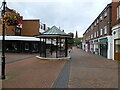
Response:
[{"label": "reddish brick paving left of the dark grey strip", "polygon": [[[20,57],[26,56],[20,54]],[[6,64],[7,79],[3,81],[3,88],[50,88],[64,63],[65,61],[44,61],[32,57]]]}]

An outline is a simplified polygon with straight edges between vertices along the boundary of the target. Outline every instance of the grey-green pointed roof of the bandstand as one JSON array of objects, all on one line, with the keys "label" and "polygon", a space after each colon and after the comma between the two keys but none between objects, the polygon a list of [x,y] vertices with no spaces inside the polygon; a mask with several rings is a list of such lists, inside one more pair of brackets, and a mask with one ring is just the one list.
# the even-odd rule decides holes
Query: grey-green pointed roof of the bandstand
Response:
[{"label": "grey-green pointed roof of the bandstand", "polygon": [[49,30],[41,33],[40,35],[37,36],[39,37],[47,37],[47,38],[54,38],[54,37],[69,37],[69,34],[66,34],[65,32],[61,31],[60,29],[58,29],[56,26],[53,26],[52,28],[50,28]]}]

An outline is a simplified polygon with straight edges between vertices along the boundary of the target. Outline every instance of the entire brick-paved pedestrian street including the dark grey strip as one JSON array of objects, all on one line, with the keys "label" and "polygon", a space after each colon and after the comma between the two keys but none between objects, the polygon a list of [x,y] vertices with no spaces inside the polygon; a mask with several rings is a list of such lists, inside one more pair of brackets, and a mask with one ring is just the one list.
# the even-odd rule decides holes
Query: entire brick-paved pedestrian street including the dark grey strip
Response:
[{"label": "entire brick-paved pedestrian street including the dark grey strip", "polygon": [[[8,55],[10,57],[10,55]],[[11,55],[10,58],[12,58]],[[17,56],[17,55],[16,55]],[[19,59],[22,56],[22,59]],[[70,61],[19,54],[6,63],[3,88],[117,88],[118,62],[73,48]]]}]

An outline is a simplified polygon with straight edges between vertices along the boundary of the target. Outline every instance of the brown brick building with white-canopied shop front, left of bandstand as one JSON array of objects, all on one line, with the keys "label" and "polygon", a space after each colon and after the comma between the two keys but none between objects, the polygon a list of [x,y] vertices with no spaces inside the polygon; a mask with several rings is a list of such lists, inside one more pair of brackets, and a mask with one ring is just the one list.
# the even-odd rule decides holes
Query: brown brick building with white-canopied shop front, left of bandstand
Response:
[{"label": "brown brick building with white-canopied shop front, left of bandstand", "polygon": [[[6,13],[14,11],[6,7]],[[1,17],[2,18],[2,17]],[[5,48],[6,52],[39,52],[39,20],[22,20],[21,25],[5,24]],[[0,41],[2,40],[2,21],[0,22]],[[2,44],[1,44],[2,45]],[[2,49],[0,49],[2,50]]]}]

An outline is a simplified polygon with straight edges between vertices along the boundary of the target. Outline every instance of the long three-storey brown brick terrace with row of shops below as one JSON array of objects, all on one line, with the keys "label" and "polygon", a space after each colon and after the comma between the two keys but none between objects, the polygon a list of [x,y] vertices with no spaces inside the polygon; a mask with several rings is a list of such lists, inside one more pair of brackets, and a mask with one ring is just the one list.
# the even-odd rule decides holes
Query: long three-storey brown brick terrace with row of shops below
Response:
[{"label": "long three-storey brown brick terrace with row of shops below", "polygon": [[115,8],[118,2],[108,4],[83,34],[82,48],[107,59],[113,59],[112,26],[115,24]]}]

